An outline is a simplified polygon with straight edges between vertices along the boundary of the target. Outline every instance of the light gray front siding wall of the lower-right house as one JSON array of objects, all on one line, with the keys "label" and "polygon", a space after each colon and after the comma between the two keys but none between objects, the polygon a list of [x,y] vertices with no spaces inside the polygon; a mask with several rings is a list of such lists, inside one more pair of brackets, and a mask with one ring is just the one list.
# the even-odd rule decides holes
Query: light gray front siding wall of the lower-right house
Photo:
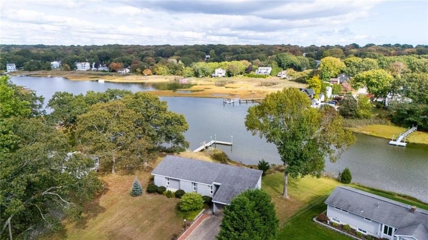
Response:
[{"label": "light gray front siding wall of the lower-right house", "polygon": [[345,213],[342,210],[334,208],[334,206],[328,205],[327,207],[327,216],[332,219],[336,218],[340,220],[340,224],[349,224],[352,228],[357,229],[357,227],[362,228],[367,231],[370,235],[378,235],[380,229],[380,223],[375,221],[364,220],[364,217],[358,216],[353,213]]}]

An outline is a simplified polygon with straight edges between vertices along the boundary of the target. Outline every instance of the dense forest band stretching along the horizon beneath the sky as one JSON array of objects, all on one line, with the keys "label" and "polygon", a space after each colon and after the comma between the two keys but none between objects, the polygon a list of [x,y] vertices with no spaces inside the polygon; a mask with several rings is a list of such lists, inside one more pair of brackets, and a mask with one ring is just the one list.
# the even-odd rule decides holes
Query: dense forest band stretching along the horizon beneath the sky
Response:
[{"label": "dense forest band stretching along the horizon beneath the sky", "polygon": [[[280,53],[290,53],[297,58],[296,70],[314,67],[314,61],[332,56],[340,59],[355,56],[378,59],[384,56],[425,55],[428,45],[409,44],[358,44],[346,46],[297,46],[297,45],[185,45],[185,46],[141,46],[141,45],[103,45],[103,46],[46,46],[46,45],[0,45],[0,70],[7,63],[24,70],[50,70],[49,62],[62,61],[70,69],[75,62],[110,65],[119,63],[131,67],[131,71],[141,72],[150,69],[156,72],[156,65],[166,66],[157,69],[162,74],[176,74],[180,67],[190,67],[197,62],[220,63],[246,60],[255,66],[271,66],[274,57]],[[178,66],[177,66],[178,65]],[[275,66],[273,66],[275,67]],[[279,66],[281,67],[281,66]],[[180,70],[181,75],[183,70]],[[180,74],[176,74],[180,75]]]}]

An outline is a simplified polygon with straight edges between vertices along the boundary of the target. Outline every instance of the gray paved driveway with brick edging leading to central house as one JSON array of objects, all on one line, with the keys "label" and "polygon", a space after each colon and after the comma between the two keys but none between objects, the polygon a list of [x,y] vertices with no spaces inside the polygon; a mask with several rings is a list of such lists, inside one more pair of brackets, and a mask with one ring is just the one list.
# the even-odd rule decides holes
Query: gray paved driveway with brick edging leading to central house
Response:
[{"label": "gray paved driveway with brick edging leading to central house", "polygon": [[186,240],[215,240],[216,235],[220,232],[222,219],[222,217],[213,215],[204,219]]}]

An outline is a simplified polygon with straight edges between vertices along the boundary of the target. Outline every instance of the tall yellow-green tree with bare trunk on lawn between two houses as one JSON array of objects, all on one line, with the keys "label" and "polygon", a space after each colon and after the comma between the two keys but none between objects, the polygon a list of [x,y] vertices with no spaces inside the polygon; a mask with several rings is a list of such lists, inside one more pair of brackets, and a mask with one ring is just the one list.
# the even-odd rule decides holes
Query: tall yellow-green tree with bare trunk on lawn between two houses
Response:
[{"label": "tall yellow-green tree with bare trunk on lawn between two houses", "polygon": [[284,88],[266,96],[248,109],[245,126],[253,135],[277,146],[284,163],[284,192],[287,177],[320,176],[324,158],[335,162],[355,137],[343,129],[342,117],[330,107],[314,109],[308,97],[296,88]]}]

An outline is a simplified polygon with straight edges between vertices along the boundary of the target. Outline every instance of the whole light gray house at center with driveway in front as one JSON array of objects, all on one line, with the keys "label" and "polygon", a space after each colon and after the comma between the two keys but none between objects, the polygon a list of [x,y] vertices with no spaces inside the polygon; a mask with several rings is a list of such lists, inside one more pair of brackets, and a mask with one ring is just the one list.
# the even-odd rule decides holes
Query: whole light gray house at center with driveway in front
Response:
[{"label": "whole light gray house at center with driveway in front", "polygon": [[151,173],[154,184],[168,190],[198,192],[212,197],[213,211],[230,204],[247,189],[261,188],[262,171],[220,163],[166,156]]}]

